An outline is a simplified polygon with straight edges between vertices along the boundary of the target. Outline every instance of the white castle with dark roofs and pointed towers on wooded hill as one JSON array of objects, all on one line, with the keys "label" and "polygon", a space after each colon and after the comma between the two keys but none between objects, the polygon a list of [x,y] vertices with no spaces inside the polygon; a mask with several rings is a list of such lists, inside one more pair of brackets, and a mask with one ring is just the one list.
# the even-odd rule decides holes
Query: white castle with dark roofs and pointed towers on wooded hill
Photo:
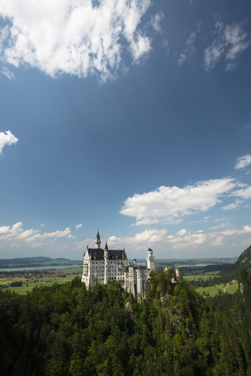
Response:
[{"label": "white castle with dark roofs and pointed towers on wooded hill", "polygon": [[147,266],[128,263],[124,249],[108,249],[107,241],[104,249],[100,248],[100,236],[97,231],[95,248],[86,248],[83,257],[82,282],[89,288],[95,283],[107,284],[116,280],[123,289],[130,291],[135,297],[140,294],[145,296],[145,281],[150,278],[154,270],[154,257],[151,248],[148,249]]}]

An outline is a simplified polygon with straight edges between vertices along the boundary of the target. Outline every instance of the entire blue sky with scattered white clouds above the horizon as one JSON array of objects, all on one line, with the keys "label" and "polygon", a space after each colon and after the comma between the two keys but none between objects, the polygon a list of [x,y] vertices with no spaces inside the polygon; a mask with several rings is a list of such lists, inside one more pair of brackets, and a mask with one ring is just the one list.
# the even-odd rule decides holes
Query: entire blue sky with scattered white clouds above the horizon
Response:
[{"label": "entire blue sky with scattered white clouds above the horizon", "polygon": [[251,243],[251,3],[2,0],[0,258]]}]

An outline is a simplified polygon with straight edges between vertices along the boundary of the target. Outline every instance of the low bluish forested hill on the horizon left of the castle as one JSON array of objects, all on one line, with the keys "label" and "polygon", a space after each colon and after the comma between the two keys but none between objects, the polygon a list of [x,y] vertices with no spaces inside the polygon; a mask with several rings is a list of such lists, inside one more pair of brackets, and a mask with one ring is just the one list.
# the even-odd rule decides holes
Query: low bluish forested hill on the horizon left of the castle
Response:
[{"label": "low bluish forested hill on the horizon left of the castle", "polygon": [[0,268],[29,268],[56,265],[81,265],[81,261],[69,259],[51,259],[50,257],[22,257],[17,259],[0,259]]}]

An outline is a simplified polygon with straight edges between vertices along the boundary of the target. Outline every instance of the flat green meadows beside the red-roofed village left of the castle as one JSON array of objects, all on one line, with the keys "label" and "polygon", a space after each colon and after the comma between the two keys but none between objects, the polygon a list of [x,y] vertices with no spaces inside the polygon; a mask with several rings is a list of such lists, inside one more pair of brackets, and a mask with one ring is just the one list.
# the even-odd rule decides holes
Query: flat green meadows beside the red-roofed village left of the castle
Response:
[{"label": "flat green meadows beside the red-roofed village left of the castle", "polygon": [[[64,271],[65,273],[77,273],[77,272],[81,272],[82,268],[62,269],[62,271]],[[31,292],[33,287],[35,286],[38,286],[38,287],[40,287],[41,285],[52,286],[54,283],[65,283],[65,282],[71,281],[75,277],[76,275],[68,275],[66,277],[54,277],[54,278],[43,277],[43,278],[37,279],[36,281],[38,282],[31,281],[31,280],[26,282],[27,279],[25,278],[0,278],[0,285],[2,284],[7,285],[8,283],[22,281],[24,282],[23,286],[8,287],[5,290],[11,291],[11,292],[15,291],[16,293],[19,293],[19,294],[27,294],[27,291]],[[41,281],[46,281],[46,280],[49,280],[50,282],[41,282]]]}]

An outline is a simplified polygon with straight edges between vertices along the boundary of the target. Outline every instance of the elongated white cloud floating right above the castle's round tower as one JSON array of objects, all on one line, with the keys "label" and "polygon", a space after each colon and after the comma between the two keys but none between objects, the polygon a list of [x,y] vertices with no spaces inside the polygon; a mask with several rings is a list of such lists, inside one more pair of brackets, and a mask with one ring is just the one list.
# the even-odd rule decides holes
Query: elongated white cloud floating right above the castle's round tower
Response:
[{"label": "elongated white cloud floating right above the castle's round tower", "polygon": [[[185,215],[209,210],[239,186],[230,177],[201,181],[184,188],[161,186],[152,192],[135,193],[124,202],[120,213],[136,217],[137,225],[177,223],[177,219],[181,221],[181,217]],[[239,190],[235,195],[241,194],[244,195]]]}]

